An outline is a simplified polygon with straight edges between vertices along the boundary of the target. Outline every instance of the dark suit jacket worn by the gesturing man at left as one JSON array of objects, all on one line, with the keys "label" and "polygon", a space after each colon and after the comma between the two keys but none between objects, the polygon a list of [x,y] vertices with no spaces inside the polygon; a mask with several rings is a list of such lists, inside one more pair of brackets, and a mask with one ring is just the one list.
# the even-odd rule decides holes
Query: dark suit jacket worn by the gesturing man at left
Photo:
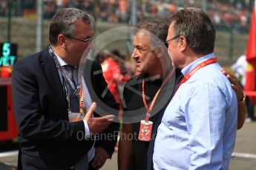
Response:
[{"label": "dark suit jacket worn by the gesturing man at left", "polygon": [[[85,68],[85,82],[92,101],[97,103],[96,112],[105,110],[104,115],[107,112],[117,115],[119,105],[108,91],[100,65],[87,60]],[[97,70],[99,73],[95,74]],[[65,92],[47,50],[16,63],[13,70],[13,106],[19,126],[21,155],[24,155],[23,169],[68,169],[91,149],[93,140],[83,137],[83,121],[68,122]],[[103,133],[118,130],[119,124],[111,123]],[[116,139],[117,136],[111,139],[102,137],[96,140],[96,146],[102,146],[112,155]]]}]

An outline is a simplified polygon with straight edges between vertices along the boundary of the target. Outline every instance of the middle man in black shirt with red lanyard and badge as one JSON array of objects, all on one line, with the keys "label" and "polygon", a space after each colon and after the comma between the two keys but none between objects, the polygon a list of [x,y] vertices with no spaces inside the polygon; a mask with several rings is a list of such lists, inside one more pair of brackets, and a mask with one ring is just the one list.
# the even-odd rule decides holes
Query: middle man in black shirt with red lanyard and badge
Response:
[{"label": "middle man in black shirt with red lanyard and badge", "polygon": [[[140,72],[140,75],[134,76],[125,84],[123,93],[126,107],[122,113],[124,123],[118,149],[118,166],[120,170],[152,168],[157,127],[161,123],[163,113],[171,100],[171,96],[174,95],[177,83],[182,78],[180,69],[176,69],[171,78],[168,78],[168,74],[172,69],[166,47],[177,40],[180,35],[172,37],[167,37],[167,35],[168,24],[159,19],[140,22],[134,33],[134,50],[131,58],[136,61],[137,72]],[[237,92],[237,101],[242,101],[243,90],[240,89],[237,79],[225,70],[223,70],[223,74],[229,78],[233,85],[232,87]],[[158,91],[159,95],[157,96]],[[156,96],[157,98],[155,98]],[[154,106],[152,105],[153,103]],[[151,106],[153,107],[150,110]],[[240,117],[238,117],[239,126],[237,126],[237,129],[240,129],[244,122],[244,105],[238,104],[238,110]],[[139,139],[140,127],[142,126],[141,120],[146,120],[147,117],[149,117],[147,121],[153,123],[150,141]],[[163,149],[165,146],[168,146],[168,143],[163,145]],[[172,153],[166,153],[166,156],[169,154]]]}]

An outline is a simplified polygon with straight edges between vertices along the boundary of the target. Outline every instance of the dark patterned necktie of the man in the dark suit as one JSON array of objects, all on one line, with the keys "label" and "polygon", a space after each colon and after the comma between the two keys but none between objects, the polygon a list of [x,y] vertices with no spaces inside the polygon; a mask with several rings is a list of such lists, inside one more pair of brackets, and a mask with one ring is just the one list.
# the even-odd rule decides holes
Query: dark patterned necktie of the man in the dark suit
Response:
[{"label": "dark patterned necktie of the man in the dark suit", "polygon": [[[72,81],[73,85],[76,87],[76,81],[77,80],[77,71],[75,67],[66,65],[65,69],[68,71],[68,77]],[[79,112],[79,98],[76,95],[73,95],[74,89],[70,86],[69,83],[67,83],[68,87],[68,94],[70,98],[70,108],[71,112]],[[88,155],[87,153],[75,164],[75,170],[85,170],[88,169]]]}]

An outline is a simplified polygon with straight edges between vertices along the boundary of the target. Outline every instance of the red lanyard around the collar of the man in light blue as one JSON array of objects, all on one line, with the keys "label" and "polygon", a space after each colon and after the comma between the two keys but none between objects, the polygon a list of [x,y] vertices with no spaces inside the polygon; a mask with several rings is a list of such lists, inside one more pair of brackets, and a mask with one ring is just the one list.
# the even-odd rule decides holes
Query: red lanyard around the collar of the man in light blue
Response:
[{"label": "red lanyard around the collar of the man in light blue", "polygon": [[213,64],[213,63],[217,63],[217,58],[215,58],[215,57],[210,58],[210,59],[198,64],[197,67],[194,67],[194,69],[192,69],[190,72],[188,72],[188,74],[186,74],[184,76],[184,78],[180,81],[180,83],[177,86],[177,89],[174,92],[174,95],[177,92],[177,90],[179,89],[180,85],[185,83],[186,81],[188,81],[188,79],[191,78],[192,75],[194,75],[194,72],[197,72],[199,69],[202,69],[203,67],[206,67],[207,65]]}]

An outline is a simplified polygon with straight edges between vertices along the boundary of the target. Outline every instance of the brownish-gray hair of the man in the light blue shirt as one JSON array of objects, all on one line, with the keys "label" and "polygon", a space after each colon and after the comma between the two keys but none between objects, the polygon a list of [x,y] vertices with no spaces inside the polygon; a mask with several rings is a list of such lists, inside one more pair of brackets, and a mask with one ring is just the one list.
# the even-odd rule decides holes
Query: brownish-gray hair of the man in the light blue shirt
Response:
[{"label": "brownish-gray hair of the man in the light blue shirt", "polygon": [[200,55],[214,51],[215,29],[210,18],[199,8],[189,7],[171,15],[174,37],[183,35],[188,47]]}]

